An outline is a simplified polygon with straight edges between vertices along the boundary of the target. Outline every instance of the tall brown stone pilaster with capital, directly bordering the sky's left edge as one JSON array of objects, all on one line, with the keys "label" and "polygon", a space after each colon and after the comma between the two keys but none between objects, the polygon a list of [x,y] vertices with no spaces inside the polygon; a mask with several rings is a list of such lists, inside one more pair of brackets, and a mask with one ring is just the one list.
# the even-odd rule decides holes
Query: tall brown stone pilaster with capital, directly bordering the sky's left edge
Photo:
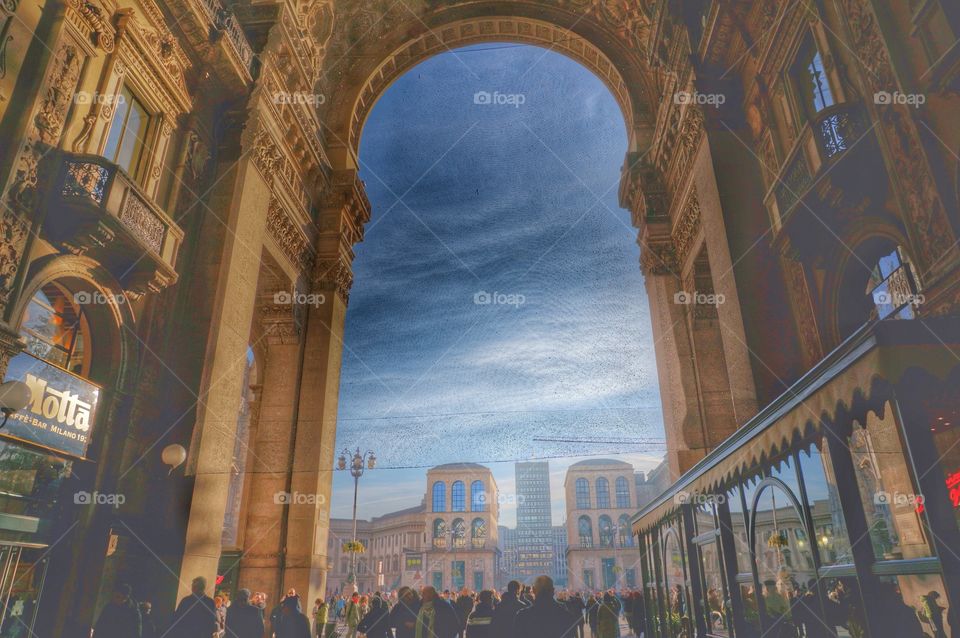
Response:
[{"label": "tall brown stone pilaster with capital, directly bordering the sky's left edge", "polygon": [[[343,360],[343,326],[353,283],[352,246],[363,236],[370,202],[356,171],[333,175],[320,210],[313,301],[306,339],[291,487],[303,494],[287,515],[284,587],[304,600],[326,593],[327,535],[337,399]],[[358,442],[360,443],[360,442]]]}]

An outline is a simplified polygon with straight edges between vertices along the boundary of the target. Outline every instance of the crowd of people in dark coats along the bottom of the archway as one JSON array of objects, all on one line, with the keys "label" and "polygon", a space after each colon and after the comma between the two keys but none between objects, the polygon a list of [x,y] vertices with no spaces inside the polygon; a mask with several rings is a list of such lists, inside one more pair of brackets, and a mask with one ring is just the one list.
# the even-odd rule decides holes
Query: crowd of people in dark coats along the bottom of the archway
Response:
[{"label": "crowd of people in dark coats along the bottom of the archway", "polygon": [[149,603],[118,585],[93,638],[621,638],[621,617],[633,636],[642,635],[645,620],[637,592],[558,594],[548,576],[532,586],[511,581],[502,593],[426,586],[335,595],[315,600],[309,617],[293,589],[269,611],[262,592],[210,597],[204,578],[191,589],[160,634]]}]

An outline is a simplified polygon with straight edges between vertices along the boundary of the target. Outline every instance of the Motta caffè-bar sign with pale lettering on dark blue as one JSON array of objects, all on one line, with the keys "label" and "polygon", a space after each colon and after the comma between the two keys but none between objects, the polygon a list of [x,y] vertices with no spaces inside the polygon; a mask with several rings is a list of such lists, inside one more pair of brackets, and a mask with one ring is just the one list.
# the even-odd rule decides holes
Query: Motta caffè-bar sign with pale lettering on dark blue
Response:
[{"label": "Motta caff\u00e8-bar sign with pale lettering on dark blue", "polygon": [[26,352],[10,360],[6,380],[26,383],[30,403],[10,416],[0,434],[70,456],[86,456],[99,386]]}]

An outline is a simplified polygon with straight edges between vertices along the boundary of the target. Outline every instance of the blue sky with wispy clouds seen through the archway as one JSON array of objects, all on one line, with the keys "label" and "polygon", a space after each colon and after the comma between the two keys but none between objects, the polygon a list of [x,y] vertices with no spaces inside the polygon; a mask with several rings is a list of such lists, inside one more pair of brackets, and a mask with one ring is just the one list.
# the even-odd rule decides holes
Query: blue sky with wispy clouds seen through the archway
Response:
[{"label": "blue sky with wispy clouds seen through the archway", "polygon": [[[376,104],[337,433],[338,450],[380,459],[361,517],[419,503],[439,463],[490,465],[509,491],[513,460],[550,458],[559,498],[579,455],[638,469],[662,455],[636,442],[663,427],[636,230],[617,205],[625,151],[607,88],[536,47],[438,55]],[[558,438],[615,442],[538,440]],[[335,473],[333,516],[351,505]]]}]

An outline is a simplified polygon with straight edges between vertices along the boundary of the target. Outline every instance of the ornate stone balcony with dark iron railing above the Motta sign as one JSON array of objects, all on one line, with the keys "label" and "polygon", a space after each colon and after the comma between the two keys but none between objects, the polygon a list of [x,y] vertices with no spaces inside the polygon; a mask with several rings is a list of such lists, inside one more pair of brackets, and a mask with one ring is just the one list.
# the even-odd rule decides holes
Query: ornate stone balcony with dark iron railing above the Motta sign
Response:
[{"label": "ornate stone balcony with dark iron railing above the Motta sign", "polygon": [[177,280],[183,230],[116,164],[99,155],[48,157],[53,171],[43,232],[103,264],[134,295]]}]

